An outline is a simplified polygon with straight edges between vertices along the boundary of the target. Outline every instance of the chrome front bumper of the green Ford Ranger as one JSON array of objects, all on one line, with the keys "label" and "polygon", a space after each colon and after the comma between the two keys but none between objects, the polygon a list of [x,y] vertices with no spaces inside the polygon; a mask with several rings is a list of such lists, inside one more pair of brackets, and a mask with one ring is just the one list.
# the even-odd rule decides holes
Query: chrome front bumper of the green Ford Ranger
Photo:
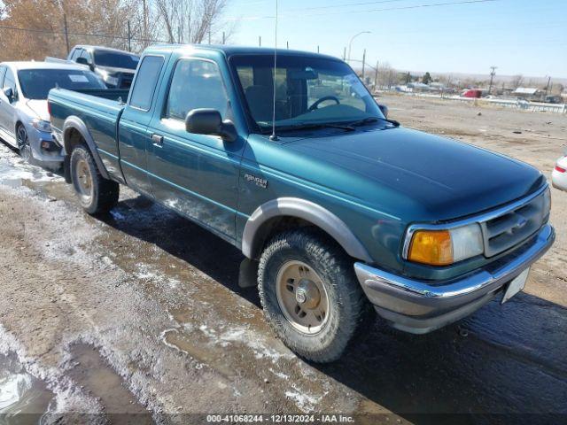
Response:
[{"label": "chrome front bumper of the green Ford Ranger", "polygon": [[354,271],[378,314],[394,328],[425,334],[485,305],[540,259],[554,241],[555,230],[547,224],[512,254],[447,282],[416,281],[363,263],[356,263]]}]

